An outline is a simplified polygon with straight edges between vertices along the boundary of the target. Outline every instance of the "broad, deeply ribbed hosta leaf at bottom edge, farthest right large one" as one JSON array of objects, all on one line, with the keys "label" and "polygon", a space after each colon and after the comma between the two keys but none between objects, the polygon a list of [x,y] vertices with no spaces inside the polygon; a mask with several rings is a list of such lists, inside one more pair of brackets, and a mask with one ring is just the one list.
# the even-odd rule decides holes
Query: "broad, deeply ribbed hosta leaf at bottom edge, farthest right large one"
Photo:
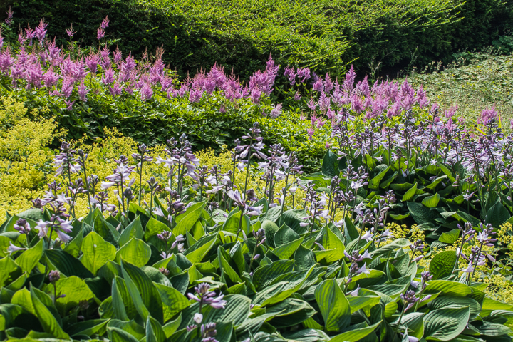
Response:
[{"label": "broad, deeply ribbed hosta leaf at bottom edge, farthest right large one", "polygon": [[468,307],[430,311],[424,316],[424,336],[437,341],[450,341],[465,330],[469,317]]}]

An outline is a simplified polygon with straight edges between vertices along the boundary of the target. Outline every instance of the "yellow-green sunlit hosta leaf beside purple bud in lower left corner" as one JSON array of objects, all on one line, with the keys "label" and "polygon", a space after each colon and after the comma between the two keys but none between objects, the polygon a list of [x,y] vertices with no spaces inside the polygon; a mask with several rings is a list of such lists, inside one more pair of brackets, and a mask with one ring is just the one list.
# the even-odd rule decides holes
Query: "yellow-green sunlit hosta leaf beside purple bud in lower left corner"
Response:
[{"label": "yellow-green sunlit hosta leaf beside purple bud in lower left corner", "polygon": [[[89,289],[86,281],[78,278],[77,276],[68,276],[61,278],[56,282],[57,296],[65,294],[63,298],[58,298],[56,301],[57,309],[61,312],[67,312],[78,306],[80,301],[88,301],[94,298],[93,291]],[[53,284],[46,286],[46,292],[53,294]]]}]

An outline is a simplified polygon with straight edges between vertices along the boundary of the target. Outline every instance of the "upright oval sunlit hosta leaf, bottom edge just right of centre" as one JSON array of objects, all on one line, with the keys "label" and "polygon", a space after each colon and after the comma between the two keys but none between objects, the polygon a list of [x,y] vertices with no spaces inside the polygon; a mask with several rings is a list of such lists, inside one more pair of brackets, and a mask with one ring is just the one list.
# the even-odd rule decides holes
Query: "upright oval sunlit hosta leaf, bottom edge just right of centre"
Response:
[{"label": "upright oval sunlit hosta leaf, bottom edge just right of centre", "polygon": [[327,331],[339,331],[351,322],[351,306],[335,279],[318,284],[315,298]]}]

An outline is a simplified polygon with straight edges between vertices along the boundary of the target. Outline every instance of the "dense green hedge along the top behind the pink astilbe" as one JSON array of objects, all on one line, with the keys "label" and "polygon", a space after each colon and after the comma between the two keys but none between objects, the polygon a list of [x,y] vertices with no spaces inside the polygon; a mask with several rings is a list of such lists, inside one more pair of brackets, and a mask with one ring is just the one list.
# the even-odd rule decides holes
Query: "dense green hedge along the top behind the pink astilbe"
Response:
[{"label": "dense green hedge along the top behind the pink astilbe", "polygon": [[[272,53],[282,65],[340,74],[347,63],[368,71],[448,59],[480,48],[513,28],[513,3],[500,0],[6,0],[16,25],[50,21],[64,42],[95,45],[106,15],[108,38],[140,56],[165,48],[165,60],[185,75],[215,62],[247,78]],[[2,6],[2,5],[0,5]],[[1,13],[4,13],[2,11]]]}]

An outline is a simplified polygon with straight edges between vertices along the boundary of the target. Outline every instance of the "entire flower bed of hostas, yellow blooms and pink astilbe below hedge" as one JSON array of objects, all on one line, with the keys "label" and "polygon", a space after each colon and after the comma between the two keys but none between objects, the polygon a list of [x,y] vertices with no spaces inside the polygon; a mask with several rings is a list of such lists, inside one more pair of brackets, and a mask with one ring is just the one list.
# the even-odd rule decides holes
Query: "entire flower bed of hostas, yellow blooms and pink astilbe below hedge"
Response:
[{"label": "entire flower bed of hostas, yellow blooms and pink astilbe below hedge", "polygon": [[[104,48],[107,20],[99,49],[42,23],[0,51],[1,338],[511,341],[497,110],[272,58],[182,81]],[[208,118],[241,123],[187,135]]]}]

